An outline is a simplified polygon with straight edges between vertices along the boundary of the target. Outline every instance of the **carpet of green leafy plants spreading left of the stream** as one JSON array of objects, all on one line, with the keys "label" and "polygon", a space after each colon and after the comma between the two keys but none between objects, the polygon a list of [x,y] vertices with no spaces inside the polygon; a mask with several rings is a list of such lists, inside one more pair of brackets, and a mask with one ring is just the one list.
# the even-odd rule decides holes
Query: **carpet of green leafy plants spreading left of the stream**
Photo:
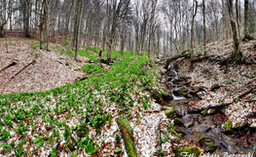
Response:
[{"label": "carpet of green leafy plants spreading left of the stream", "polygon": [[[80,49],[79,53],[92,60],[97,57],[85,49]],[[112,56],[119,57],[118,51],[113,51]],[[39,155],[38,148],[52,147],[51,154],[55,156],[56,147],[53,145],[60,141],[64,141],[63,149],[70,154],[82,149],[95,152],[99,145],[88,137],[88,126],[93,127],[99,136],[100,126],[106,121],[111,123],[113,112],[107,110],[109,107],[121,109],[118,111],[123,116],[129,116],[135,104],[139,109],[151,107],[148,95],[139,95],[138,100],[131,97],[140,93],[145,85],[158,84],[154,80],[156,73],[153,73],[156,66],[149,68],[148,64],[146,56],[125,52],[105,75],[49,91],[0,95],[2,154],[14,151],[17,155]],[[91,73],[101,72],[100,68],[94,68],[96,70],[91,70]],[[85,66],[84,70],[89,72],[89,67]],[[18,141],[16,137],[23,137],[26,142]],[[25,149],[24,144],[36,144],[37,149]]]}]

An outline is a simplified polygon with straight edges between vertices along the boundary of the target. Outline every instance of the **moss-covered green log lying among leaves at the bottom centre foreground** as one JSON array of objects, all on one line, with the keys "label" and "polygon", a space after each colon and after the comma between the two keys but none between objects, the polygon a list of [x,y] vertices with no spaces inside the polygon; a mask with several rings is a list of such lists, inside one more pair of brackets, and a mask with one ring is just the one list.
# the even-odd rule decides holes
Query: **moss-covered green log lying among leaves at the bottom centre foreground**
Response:
[{"label": "moss-covered green log lying among leaves at the bottom centre foreground", "polygon": [[133,143],[133,130],[130,127],[130,124],[128,122],[127,118],[118,117],[117,123],[119,125],[119,129],[122,133],[122,137],[125,141],[126,150],[128,153],[128,157],[136,157],[137,154],[135,152],[135,146]]}]

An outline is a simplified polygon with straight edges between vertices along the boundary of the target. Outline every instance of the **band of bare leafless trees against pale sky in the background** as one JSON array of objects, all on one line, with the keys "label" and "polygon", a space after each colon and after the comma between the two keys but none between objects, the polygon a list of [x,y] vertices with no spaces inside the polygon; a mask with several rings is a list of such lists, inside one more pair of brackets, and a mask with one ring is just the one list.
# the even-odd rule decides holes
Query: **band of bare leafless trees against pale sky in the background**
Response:
[{"label": "band of bare leafless trees against pale sky in the background", "polygon": [[[0,37],[22,30],[71,47],[169,56],[207,41],[252,39],[255,0],[0,0]],[[205,47],[204,47],[204,53]]]}]

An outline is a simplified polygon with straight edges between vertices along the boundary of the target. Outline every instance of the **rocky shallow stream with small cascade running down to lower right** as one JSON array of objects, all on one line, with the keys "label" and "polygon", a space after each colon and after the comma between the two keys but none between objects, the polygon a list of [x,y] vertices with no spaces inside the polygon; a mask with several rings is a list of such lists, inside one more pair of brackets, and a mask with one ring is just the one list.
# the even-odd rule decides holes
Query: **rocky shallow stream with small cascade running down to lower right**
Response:
[{"label": "rocky shallow stream with small cascade running down to lower right", "polygon": [[[168,82],[178,78],[174,70],[170,70],[174,75]],[[200,113],[188,113],[190,102],[199,101],[197,99],[186,99],[180,96],[175,90],[169,89],[173,96],[172,101],[166,101],[164,106],[173,107],[178,113],[179,119],[183,125],[174,125],[174,129],[182,129],[187,134],[183,134],[183,140],[188,142],[197,141],[201,134],[205,135],[204,142],[197,143],[198,146],[204,148],[211,154],[253,154],[256,150],[256,133],[255,131],[244,131],[245,128],[226,133],[221,129],[225,122],[225,115],[223,112],[214,112],[211,115],[202,116]],[[213,142],[218,145],[217,149],[210,151],[205,143]],[[255,154],[254,154],[255,155]]]}]

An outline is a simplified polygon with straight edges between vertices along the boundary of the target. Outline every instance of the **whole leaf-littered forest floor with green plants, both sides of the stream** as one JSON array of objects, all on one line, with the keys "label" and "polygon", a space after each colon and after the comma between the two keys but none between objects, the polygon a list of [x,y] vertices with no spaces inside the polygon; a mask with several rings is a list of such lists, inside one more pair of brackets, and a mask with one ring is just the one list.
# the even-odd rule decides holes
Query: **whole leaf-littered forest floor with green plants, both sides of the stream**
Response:
[{"label": "whole leaf-littered forest floor with green plants, both sides of the stream", "polygon": [[[198,151],[212,152],[206,142],[197,140],[198,134],[196,138],[190,134],[198,127],[195,117],[203,122],[209,117],[196,114],[202,110],[214,117],[214,126],[207,121],[206,132],[214,127],[225,131],[225,121],[231,121],[235,130],[241,126],[249,130],[232,133],[231,137],[238,139],[233,144],[221,138],[228,137],[226,132],[219,131],[214,137],[219,141],[213,141],[219,150],[215,153],[255,152],[255,41],[243,43],[246,62],[240,65],[221,65],[232,52],[232,41],[207,44],[206,57],[198,47],[194,53],[188,50],[162,64],[128,51],[120,57],[114,50],[111,65],[98,60],[99,48],[81,47],[81,61],[75,62],[73,51],[65,46],[51,44],[51,51],[46,51],[39,49],[36,40],[10,37],[7,41],[8,53],[5,39],[0,39],[0,71],[7,67],[0,72],[3,156],[128,156],[118,117],[128,119],[138,156],[159,156],[162,152],[178,156],[184,148],[194,146]],[[219,87],[210,91],[212,85]],[[163,93],[156,97],[156,91],[163,90],[169,98],[188,99],[167,102],[161,97]],[[170,109],[175,102],[187,105],[184,115],[184,110],[174,109],[175,117],[167,117],[164,106]],[[194,121],[185,123],[185,114],[190,113]],[[177,117],[188,135],[179,129]],[[191,138],[187,140],[186,135]],[[238,143],[242,149],[233,146]]]}]

